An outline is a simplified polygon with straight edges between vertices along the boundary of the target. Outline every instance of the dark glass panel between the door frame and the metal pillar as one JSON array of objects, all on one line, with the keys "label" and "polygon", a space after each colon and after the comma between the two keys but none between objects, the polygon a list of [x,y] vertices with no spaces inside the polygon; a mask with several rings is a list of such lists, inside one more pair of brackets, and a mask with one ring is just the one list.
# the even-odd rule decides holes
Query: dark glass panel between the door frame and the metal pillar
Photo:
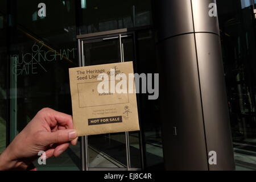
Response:
[{"label": "dark glass panel between the door frame and the metal pillar", "polygon": [[[151,30],[137,32],[138,73],[159,73],[155,55],[155,35]],[[148,100],[147,94],[139,94],[141,125],[143,128],[144,160],[146,169],[162,170],[163,144],[159,119],[159,101]]]}]

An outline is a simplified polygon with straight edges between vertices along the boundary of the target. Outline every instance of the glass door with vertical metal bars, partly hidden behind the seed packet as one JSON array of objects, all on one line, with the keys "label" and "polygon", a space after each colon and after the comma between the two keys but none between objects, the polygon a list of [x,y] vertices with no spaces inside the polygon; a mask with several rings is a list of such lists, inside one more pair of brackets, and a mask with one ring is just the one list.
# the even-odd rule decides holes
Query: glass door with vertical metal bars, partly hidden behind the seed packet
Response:
[{"label": "glass door with vertical metal bars, partly hidden behind the seed packet", "polygon": [[[86,36],[79,39],[80,66],[135,61],[133,32]],[[126,132],[82,137],[83,169],[141,169],[139,136]]]}]

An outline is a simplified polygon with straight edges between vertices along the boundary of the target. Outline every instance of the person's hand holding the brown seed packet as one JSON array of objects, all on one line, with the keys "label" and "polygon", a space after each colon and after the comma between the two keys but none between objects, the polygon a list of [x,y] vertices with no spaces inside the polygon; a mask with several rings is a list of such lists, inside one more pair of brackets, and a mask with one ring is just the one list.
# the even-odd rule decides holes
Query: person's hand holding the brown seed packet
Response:
[{"label": "person's hand holding the brown seed packet", "polygon": [[69,143],[76,145],[77,139],[71,115],[44,108],[0,155],[0,170],[25,170],[39,157],[39,151],[45,151],[46,158],[59,156]]}]

